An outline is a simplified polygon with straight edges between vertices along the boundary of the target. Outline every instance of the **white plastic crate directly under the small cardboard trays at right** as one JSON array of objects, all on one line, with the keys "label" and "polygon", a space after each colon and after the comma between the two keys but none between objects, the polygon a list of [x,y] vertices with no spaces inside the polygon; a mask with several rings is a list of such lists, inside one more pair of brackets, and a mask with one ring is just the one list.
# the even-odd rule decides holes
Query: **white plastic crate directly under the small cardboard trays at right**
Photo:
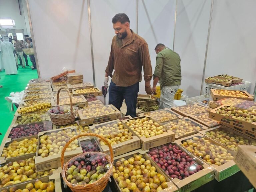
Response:
[{"label": "white plastic crate directly under the small cardboard trays at right", "polygon": [[241,85],[235,85],[231,87],[224,87],[221,85],[215,85],[215,84],[209,84],[205,83],[204,84],[204,91],[205,95],[210,95],[211,94],[211,89],[224,89],[224,90],[240,90],[240,91],[247,91],[247,89],[250,87],[251,82],[249,81],[243,81],[243,84]]}]

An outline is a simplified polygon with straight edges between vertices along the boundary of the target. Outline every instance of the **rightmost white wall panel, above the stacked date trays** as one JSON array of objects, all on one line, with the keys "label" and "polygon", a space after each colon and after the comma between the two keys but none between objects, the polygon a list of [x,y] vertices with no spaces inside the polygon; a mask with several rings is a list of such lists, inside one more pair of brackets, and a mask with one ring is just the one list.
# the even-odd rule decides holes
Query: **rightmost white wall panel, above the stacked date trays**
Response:
[{"label": "rightmost white wall panel, above the stacked date trays", "polygon": [[256,1],[215,0],[205,77],[230,74],[256,81]]}]

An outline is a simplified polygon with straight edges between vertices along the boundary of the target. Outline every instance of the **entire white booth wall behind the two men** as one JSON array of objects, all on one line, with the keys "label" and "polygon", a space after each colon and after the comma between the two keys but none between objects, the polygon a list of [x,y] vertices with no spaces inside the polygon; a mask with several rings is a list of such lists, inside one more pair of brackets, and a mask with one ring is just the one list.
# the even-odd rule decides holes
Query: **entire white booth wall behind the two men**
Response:
[{"label": "entire white booth wall behind the two men", "polygon": [[[253,94],[253,0],[243,4],[239,0],[27,2],[41,78],[48,79],[66,67],[83,73],[84,81],[93,83],[95,79],[96,87],[101,87],[115,35],[111,19],[123,12],[130,18],[131,29],[147,41],[153,70],[157,43],[174,48],[180,55],[185,95],[199,95],[202,79],[222,73],[252,82],[249,92]],[[143,82],[140,93],[144,93]]]}]

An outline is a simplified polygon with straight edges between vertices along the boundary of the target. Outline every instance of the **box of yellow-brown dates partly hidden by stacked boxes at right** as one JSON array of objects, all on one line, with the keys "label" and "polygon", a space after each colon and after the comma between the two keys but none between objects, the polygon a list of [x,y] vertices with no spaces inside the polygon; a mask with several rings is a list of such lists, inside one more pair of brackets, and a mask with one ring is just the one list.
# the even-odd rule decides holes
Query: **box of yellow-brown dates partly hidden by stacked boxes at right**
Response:
[{"label": "box of yellow-brown dates partly hidden by stacked boxes at right", "polygon": [[188,117],[209,128],[216,127],[222,124],[220,121],[209,118],[209,112],[189,115]]}]

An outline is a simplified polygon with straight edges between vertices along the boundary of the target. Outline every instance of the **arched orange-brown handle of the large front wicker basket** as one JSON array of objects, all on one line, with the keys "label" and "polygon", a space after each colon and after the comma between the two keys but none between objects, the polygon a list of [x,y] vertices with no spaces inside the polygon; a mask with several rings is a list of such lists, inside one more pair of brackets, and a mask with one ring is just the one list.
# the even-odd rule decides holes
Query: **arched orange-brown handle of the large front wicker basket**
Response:
[{"label": "arched orange-brown handle of the large front wicker basket", "polygon": [[105,141],[108,144],[109,147],[109,151],[110,151],[110,158],[111,158],[111,162],[113,162],[113,149],[112,146],[110,145],[110,143],[102,136],[95,134],[95,133],[84,133],[84,134],[80,134],[80,135],[76,135],[74,137],[72,137],[67,143],[66,145],[63,147],[63,150],[61,152],[61,157],[60,157],[60,161],[61,161],[61,168],[63,169],[64,166],[64,153],[68,147],[68,145],[74,141],[75,139],[78,139],[79,137],[84,137],[84,136],[93,136],[93,137],[98,137],[100,139],[102,139],[103,141]]}]

